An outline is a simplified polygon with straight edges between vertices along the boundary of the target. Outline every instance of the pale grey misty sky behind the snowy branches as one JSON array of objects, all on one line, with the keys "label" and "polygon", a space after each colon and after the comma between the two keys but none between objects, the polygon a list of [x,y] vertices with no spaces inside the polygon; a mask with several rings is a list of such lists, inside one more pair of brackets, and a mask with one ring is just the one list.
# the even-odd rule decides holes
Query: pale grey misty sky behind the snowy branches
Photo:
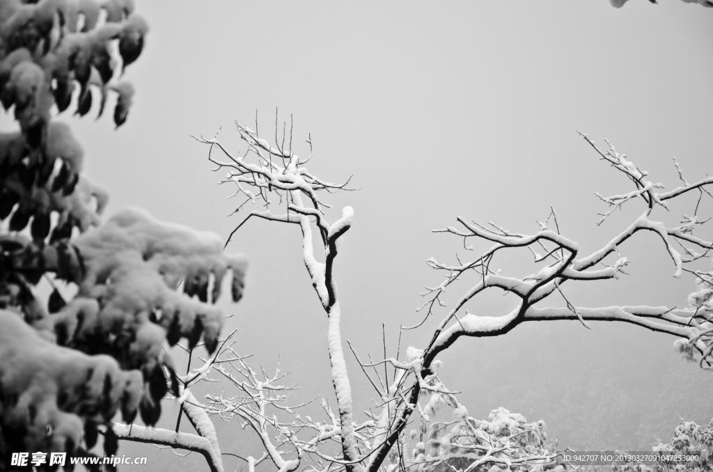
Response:
[{"label": "pale grey misty sky behind the snowy branches", "polygon": [[[480,242],[469,253],[462,240],[432,230],[461,216],[536,232],[535,219],[552,205],[563,234],[586,254],[643,211],[631,202],[595,225],[605,210],[595,191],[632,189],[578,130],[601,148],[608,138],[667,188],[680,183],[674,156],[689,182],[713,172],[713,11],[694,4],[138,1],[137,11],[151,31],[128,69],[137,93],[127,123],[114,130],[108,116],[94,122],[96,110],[62,118],[86,150],[86,173],[110,190],[105,218],[134,205],[227,238],[251,207],[226,216],[242,197],[225,199],[235,189],[215,185],[225,172],[211,172],[207,147],[190,135],[212,137],[222,126],[222,143],[244,152],[233,120],[254,128],[257,111],[260,137],[272,140],[278,108],[280,140],[291,116],[297,154],[309,155],[311,136],[312,173],[339,183],[353,175],[350,187],[360,189],[322,198],[334,205],[330,222],[344,205],[354,207],[336,262],[342,335],[375,359],[382,322],[394,356],[399,326],[421,320],[419,293],[442,280],[424,263],[429,257],[456,262],[456,253],[473,258],[490,246]],[[3,128],[14,125],[11,116],[1,119]],[[658,208],[653,216],[674,225],[692,214],[696,199],[686,195],[670,214]],[[704,200],[699,215],[713,216],[713,201]],[[698,231],[711,240],[712,227]],[[255,353],[267,371],[279,356],[282,371],[294,371],[287,381],[301,386],[294,403],[332,400],[327,317],[304,270],[299,229],[251,220],[227,250],[250,258],[244,299],[222,302],[235,313],[225,332],[239,329],[237,351]],[[630,277],[572,284],[568,299],[580,307],[687,305],[693,279],[672,277],[660,240],[637,234],[620,253],[632,261]],[[532,260],[527,250],[511,250],[491,267],[521,277]],[[468,287],[454,285],[446,301]],[[467,307],[497,315],[514,304],[486,292]],[[424,347],[440,319],[404,332],[402,352]],[[668,442],[681,418],[710,421],[713,376],[682,361],[675,338],[591,325],[531,323],[499,338],[461,338],[441,356],[441,379],[463,391],[471,416],[487,419],[503,406],[542,419],[562,448],[649,450],[657,438]],[[345,355],[359,417],[374,392]],[[173,356],[185,369],[186,357]],[[198,393],[220,388],[205,384]],[[173,429],[177,412],[165,401],[158,426]],[[259,454],[237,421],[214,422],[223,452]],[[191,431],[185,419],[181,428]],[[123,441],[119,453],[148,455],[154,471],[206,467],[198,454],[180,458],[145,444]],[[223,461],[230,471],[245,466]]]}]

